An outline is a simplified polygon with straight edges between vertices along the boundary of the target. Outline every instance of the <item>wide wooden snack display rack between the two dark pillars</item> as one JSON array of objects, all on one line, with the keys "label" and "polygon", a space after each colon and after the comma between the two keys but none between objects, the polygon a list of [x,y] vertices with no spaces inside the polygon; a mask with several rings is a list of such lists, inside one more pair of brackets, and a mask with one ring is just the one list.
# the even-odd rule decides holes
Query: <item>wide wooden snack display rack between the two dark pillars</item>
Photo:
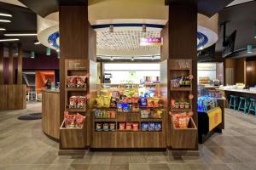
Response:
[{"label": "wide wooden snack display rack between the two dark pillars", "polygon": [[[98,85],[98,92],[101,91],[101,88],[104,88],[106,84]],[[108,86],[115,86],[116,89],[124,88],[124,84],[108,84]],[[138,84],[133,84],[130,88],[138,88]],[[156,86],[160,86],[156,84]],[[106,89],[106,88],[105,88]],[[129,88],[125,88],[129,89]],[[99,93],[98,93],[99,94]],[[163,107],[158,108],[149,108],[149,107],[140,107],[139,111],[129,111],[129,112],[118,112],[117,108],[96,108],[95,111],[114,111],[116,114],[111,118],[107,117],[96,117],[93,116],[93,142],[92,148],[166,148],[165,143],[165,111],[163,111],[162,116],[160,118],[142,118],[141,111],[144,109],[151,110],[161,110],[163,111]],[[161,123],[160,131],[143,131],[142,123],[144,122],[154,122]],[[97,123],[114,123],[115,129],[112,131],[97,131],[96,124]],[[138,125],[136,130],[120,130],[119,124],[126,123],[135,123]],[[132,125],[133,126],[133,125]]]}]

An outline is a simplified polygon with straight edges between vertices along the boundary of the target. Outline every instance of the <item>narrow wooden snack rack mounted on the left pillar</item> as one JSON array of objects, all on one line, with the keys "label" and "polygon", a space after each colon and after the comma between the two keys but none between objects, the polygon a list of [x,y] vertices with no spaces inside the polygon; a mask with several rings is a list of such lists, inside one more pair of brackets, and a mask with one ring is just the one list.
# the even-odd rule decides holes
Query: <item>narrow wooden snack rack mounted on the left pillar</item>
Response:
[{"label": "narrow wooden snack rack mounted on the left pillar", "polygon": [[[65,118],[61,123],[61,149],[84,149],[90,145],[90,103],[87,99],[84,108],[69,108],[69,98],[72,96],[84,96],[87,98],[90,94],[90,77],[91,68],[94,68],[93,61],[89,59],[65,59],[65,111],[70,115],[80,114],[85,116],[85,121],[80,127],[66,127]],[[89,66],[91,65],[91,66]],[[84,86],[68,87],[67,77],[86,77]],[[63,113],[61,113],[63,114]]]}]

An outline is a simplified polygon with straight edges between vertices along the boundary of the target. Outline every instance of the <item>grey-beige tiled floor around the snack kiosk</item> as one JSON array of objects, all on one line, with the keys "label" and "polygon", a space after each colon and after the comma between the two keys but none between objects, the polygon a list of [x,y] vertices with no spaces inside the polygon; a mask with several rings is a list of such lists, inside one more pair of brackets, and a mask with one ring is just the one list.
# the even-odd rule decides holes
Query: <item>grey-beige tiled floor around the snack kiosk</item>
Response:
[{"label": "grey-beige tiled floor around the snack kiosk", "polygon": [[90,152],[58,156],[58,144],[41,131],[41,121],[17,116],[40,111],[0,111],[0,169],[256,170],[256,116],[226,110],[225,130],[200,145],[201,157],[175,159],[165,152]]}]

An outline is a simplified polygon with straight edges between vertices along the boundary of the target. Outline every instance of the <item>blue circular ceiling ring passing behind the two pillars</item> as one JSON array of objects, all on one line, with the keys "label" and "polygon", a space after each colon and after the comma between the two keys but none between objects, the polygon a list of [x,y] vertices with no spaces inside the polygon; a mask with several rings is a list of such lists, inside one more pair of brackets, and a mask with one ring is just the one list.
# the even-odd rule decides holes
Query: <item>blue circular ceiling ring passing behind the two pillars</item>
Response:
[{"label": "blue circular ceiling ring passing behind the two pillars", "polygon": [[[147,27],[152,27],[152,28],[163,28],[164,26],[162,25],[154,25],[154,24],[145,24]],[[110,25],[106,24],[106,25],[96,25],[96,26],[92,26],[94,29],[99,29],[99,28],[108,28]],[[141,27],[143,26],[143,24],[113,24],[112,26],[114,27]],[[59,44],[57,43],[57,39],[60,37],[60,33],[59,31],[56,31],[54,33],[52,33],[51,35],[49,35],[48,37],[48,42],[49,44],[53,47],[53,48],[60,48]],[[207,42],[209,41],[208,37],[201,33],[200,31],[197,32],[196,35],[197,39],[198,39],[198,44],[197,44],[197,48],[202,48],[204,47]]]}]

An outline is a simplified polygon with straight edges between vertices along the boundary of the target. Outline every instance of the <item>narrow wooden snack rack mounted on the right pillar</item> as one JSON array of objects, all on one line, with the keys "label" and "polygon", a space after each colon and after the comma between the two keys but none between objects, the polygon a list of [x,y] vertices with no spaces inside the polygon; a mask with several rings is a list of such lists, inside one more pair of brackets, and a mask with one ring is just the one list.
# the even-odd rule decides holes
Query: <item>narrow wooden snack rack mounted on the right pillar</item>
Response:
[{"label": "narrow wooden snack rack mounted on the right pillar", "polygon": [[[192,59],[167,59],[162,66],[166,66],[166,77],[169,82],[166,82],[166,108],[168,108],[168,133],[167,146],[171,150],[195,149],[197,141],[197,127],[193,117],[189,118],[188,128],[177,128],[174,125],[172,118],[173,114],[191,113],[194,111],[193,102],[193,76],[192,76]],[[164,75],[165,76],[165,75]],[[189,86],[187,87],[173,87],[172,80],[175,77],[189,77]],[[188,81],[188,79],[187,79]],[[165,83],[165,82],[164,82]],[[177,108],[173,101],[182,101],[180,107]],[[189,108],[183,106],[183,102],[189,102]],[[176,104],[177,105],[177,104]],[[194,114],[197,114],[194,112]],[[171,123],[170,123],[171,122]]]}]

